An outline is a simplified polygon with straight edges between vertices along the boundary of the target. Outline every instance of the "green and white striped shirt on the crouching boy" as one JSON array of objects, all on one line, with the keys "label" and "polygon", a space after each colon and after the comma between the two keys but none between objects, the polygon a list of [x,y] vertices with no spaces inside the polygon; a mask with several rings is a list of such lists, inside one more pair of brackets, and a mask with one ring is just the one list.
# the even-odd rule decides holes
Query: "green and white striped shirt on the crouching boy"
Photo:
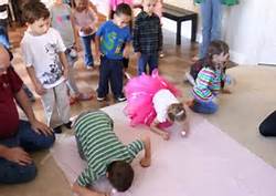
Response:
[{"label": "green and white striped shirt on the crouching boy", "polygon": [[130,163],[144,149],[139,140],[124,145],[113,131],[113,120],[104,112],[87,112],[74,123],[77,142],[87,161],[87,167],[78,176],[81,186],[89,186],[106,175],[114,161]]}]

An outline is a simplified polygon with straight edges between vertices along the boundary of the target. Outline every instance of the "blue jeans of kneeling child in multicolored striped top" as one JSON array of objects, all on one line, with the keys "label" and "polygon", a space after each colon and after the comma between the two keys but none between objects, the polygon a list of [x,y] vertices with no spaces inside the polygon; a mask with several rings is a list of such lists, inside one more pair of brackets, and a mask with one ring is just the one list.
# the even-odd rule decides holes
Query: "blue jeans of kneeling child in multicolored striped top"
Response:
[{"label": "blue jeans of kneeling child in multicolored striped top", "polygon": [[197,113],[202,114],[213,114],[217,111],[219,105],[214,102],[200,102],[195,101],[194,105],[191,106],[191,110]]}]

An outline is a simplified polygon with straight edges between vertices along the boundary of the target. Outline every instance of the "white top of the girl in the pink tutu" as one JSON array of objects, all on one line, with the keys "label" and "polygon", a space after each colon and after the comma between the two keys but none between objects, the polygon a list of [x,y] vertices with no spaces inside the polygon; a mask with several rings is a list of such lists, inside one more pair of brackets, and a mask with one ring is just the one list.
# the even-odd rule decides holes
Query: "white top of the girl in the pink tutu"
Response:
[{"label": "white top of the girl in the pink tutu", "polygon": [[179,103],[178,99],[167,89],[159,90],[153,99],[153,107],[157,113],[157,120],[160,123],[167,121],[167,110],[173,103]]}]

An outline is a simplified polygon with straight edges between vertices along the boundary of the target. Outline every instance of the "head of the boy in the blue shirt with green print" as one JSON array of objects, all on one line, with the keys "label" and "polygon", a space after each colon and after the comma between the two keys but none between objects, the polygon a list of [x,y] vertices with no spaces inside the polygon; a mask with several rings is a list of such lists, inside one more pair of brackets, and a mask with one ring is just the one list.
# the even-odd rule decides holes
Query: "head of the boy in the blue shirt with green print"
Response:
[{"label": "head of the boy in the blue shirt with green print", "polygon": [[131,8],[127,3],[120,3],[117,6],[114,14],[114,22],[119,28],[125,28],[129,25],[131,20]]}]

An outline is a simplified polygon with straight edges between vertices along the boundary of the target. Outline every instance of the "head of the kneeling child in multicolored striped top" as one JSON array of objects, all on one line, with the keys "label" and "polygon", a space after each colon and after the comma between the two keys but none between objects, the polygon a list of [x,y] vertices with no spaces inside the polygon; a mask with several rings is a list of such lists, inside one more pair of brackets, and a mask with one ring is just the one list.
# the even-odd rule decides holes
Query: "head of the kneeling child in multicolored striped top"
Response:
[{"label": "head of the kneeling child in multicolored striped top", "polygon": [[215,66],[223,65],[229,60],[229,45],[224,41],[214,40],[208,48],[208,58]]}]

